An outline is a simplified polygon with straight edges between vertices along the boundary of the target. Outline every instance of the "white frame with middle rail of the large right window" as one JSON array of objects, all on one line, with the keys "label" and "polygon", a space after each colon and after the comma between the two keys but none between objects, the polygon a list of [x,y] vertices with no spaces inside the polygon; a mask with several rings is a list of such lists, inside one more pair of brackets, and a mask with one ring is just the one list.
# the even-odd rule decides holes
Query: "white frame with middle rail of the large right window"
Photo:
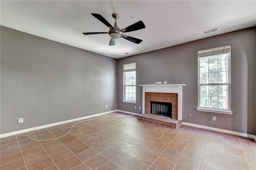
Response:
[{"label": "white frame with middle rail of the large right window", "polygon": [[[224,46],[224,47],[216,47],[216,48],[212,48],[212,49],[205,49],[205,50],[200,50],[198,51],[198,55],[199,53],[202,52],[211,52],[211,51],[218,51],[220,49],[227,49],[229,48],[230,51],[228,52],[228,83],[200,83],[200,58],[198,56],[198,107],[196,108],[197,111],[204,111],[204,112],[211,112],[211,113],[222,113],[222,114],[228,114],[228,115],[232,115],[232,111],[231,111],[231,46]],[[227,52],[223,52],[223,53],[219,53],[219,54],[213,54],[213,55],[206,55],[203,57],[213,57],[215,55],[220,55],[220,54],[225,54]],[[208,68],[209,69],[209,68]],[[219,108],[210,108],[210,107],[200,107],[200,86],[201,85],[228,85],[228,109],[219,109]],[[208,95],[209,97],[209,95]]]}]

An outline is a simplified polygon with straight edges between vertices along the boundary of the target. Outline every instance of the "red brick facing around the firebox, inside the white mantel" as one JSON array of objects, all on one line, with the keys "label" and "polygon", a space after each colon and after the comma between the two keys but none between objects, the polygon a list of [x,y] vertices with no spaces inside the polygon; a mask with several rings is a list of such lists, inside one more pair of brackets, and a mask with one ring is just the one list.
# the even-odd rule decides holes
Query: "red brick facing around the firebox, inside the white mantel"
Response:
[{"label": "red brick facing around the firebox, inside the white mantel", "polygon": [[150,114],[150,101],[172,103],[172,119],[178,119],[178,93],[145,92],[145,112]]}]

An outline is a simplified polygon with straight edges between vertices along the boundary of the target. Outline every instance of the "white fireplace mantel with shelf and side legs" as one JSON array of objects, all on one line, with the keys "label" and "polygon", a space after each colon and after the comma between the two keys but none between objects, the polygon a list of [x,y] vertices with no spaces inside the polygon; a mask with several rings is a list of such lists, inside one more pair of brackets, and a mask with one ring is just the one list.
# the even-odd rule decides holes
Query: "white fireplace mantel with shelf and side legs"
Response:
[{"label": "white fireplace mantel with shelf and side legs", "polygon": [[145,92],[178,93],[178,120],[182,120],[182,86],[186,84],[154,84],[142,86],[142,113],[145,113]]}]

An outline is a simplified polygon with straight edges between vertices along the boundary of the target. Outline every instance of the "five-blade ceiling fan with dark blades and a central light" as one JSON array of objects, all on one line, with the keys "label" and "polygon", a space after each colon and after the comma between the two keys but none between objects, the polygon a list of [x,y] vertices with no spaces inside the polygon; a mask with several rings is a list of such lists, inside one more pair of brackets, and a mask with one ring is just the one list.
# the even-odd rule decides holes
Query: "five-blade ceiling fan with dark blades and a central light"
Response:
[{"label": "five-blade ceiling fan with dark blades and a central light", "polygon": [[[94,14],[91,13],[95,18],[97,18],[98,20],[100,20],[100,22],[102,22],[103,24],[105,24],[108,28],[110,28],[110,30],[108,32],[83,32],[84,35],[92,35],[92,34],[109,34],[111,39],[109,42],[109,45],[116,45],[116,39],[118,38],[124,38],[130,42],[134,42],[134,43],[141,43],[142,40],[138,39],[138,38],[134,38],[134,37],[130,37],[130,36],[126,36],[124,35],[124,32],[132,32],[132,31],[136,31],[136,30],[140,30],[145,28],[145,25],[142,21],[138,21],[124,29],[120,29],[117,26],[117,23],[115,22],[114,27],[112,25],[110,25],[110,23],[100,14]],[[113,18],[115,19],[115,21],[119,18],[119,15],[114,13],[112,14]]]}]

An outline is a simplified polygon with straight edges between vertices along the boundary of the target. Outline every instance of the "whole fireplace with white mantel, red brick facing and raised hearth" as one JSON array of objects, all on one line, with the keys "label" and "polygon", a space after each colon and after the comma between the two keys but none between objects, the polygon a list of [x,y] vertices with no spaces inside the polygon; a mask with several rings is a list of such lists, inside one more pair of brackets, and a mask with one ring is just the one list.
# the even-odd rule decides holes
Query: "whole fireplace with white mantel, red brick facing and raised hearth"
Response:
[{"label": "whole fireplace with white mantel, red brick facing and raised hearth", "polygon": [[[139,85],[142,86],[142,114],[138,121],[153,123],[170,128],[182,125],[182,86],[179,85]],[[172,103],[172,119],[150,114],[150,101]]]}]

